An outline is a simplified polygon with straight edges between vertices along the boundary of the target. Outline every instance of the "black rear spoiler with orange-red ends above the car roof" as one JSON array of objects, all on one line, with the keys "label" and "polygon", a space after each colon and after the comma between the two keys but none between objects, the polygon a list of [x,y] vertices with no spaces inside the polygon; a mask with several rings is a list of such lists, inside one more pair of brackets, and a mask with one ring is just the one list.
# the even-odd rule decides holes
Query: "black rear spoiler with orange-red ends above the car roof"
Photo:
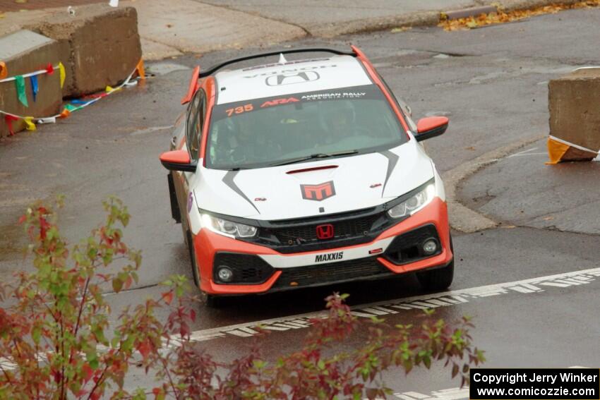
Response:
[{"label": "black rear spoiler with orange-red ends above the car roof", "polygon": [[280,50],[280,51],[269,51],[268,53],[252,54],[251,56],[238,57],[236,59],[223,61],[222,63],[218,63],[217,65],[212,66],[212,67],[208,68],[208,70],[202,71],[202,72],[200,72],[200,66],[196,66],[196,68],[193,68],[193,71],[192,71],[192,76],[191,76],[191,80],[190,80],[190,85],[188,87],[188,92],[186,93],[184,98],[181,99],[181,104],[186,104],[186,103],[190,102],[194,93],[196,93],[196,91],[198,90],[198,87],[199,87],[198,79],[205,78],[206,76],[212,75],[213,73],[219,71],[224,66],[228,66],[232,63],[239,63],[241,61],[248,61],[248,60],[252,60],[252,59],[260,59],[260,58],[268,57],[268,56],[278,56],[280,54],[315,53],[315,52],[337,54],[338,56],[353,56],[353,57],[359,57],[360,59],[366,59],[364,53],[358,47],[351,46],[351,49],[352,49],[352,51],[329,49],[327,47],[307,47],[304,49],[287,49],[287,50]]}]

